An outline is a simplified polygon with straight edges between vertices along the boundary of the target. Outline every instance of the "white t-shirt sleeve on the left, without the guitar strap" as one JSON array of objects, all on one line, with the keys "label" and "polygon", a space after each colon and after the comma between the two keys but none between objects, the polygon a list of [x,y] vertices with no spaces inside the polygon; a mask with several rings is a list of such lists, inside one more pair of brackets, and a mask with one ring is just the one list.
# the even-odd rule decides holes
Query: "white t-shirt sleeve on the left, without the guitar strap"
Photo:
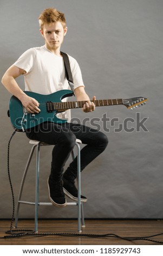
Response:
[{"label": "white t-shirt sleeve on the left, without the guitar strap", "polygon": [[35,59],[36,53],[33,48],[30,48],[29,50],[25,51],[14,63],[15,66],[17,66],[20,69],[24,69],[26,73],[28,74],[33,66],[34,66],[34,59]]}]

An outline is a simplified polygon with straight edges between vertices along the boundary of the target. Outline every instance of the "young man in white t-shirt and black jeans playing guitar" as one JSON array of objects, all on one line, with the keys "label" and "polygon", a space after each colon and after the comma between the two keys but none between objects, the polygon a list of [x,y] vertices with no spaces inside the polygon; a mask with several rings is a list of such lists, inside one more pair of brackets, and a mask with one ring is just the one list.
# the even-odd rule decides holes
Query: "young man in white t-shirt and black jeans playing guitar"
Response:
[{"label": "young man in white t-shirt and black jeans playing guitar", "polygon": [[[70,89],[65,76],[63,58],[60,48],[67,33],[66,20],[60,11],[45,9],[39,17],[40,32],[45,45],[30,48],[5,72],[2,83],[8,91],[15,95],[30,113],[39,113],[39,102],[27,96],[19,88],[16,78],[24,76],[25,90],[40,94],[51,94],[58,90]],[[95,105],[90,102],[84,90],[81,70],[76,60],[69,56],[70,68],[74,81],[74,92],[77,101],[86,101],[83,112],[94,111]],[[93,97],[95,100],[95,96]],[[58,113],[60,118],[69,118],[70,111]],[[81,139],[86,146],[81,150],[81,170],[83,170],[95,157],[105,150],[108,139],[100,131],[80,124],[55,124],[44,122],[37,127],[26,130],[30,139],[36,139],[55,145],[51,161],[51,173],[48,178],[49,198],[56,206],[66,206],[64,193],[73,200],[77,200],[77,160],[70,163],[63,174],[63,167],[73,150],[76,138]],[[83,202],[87,198],[81,196]]]}]

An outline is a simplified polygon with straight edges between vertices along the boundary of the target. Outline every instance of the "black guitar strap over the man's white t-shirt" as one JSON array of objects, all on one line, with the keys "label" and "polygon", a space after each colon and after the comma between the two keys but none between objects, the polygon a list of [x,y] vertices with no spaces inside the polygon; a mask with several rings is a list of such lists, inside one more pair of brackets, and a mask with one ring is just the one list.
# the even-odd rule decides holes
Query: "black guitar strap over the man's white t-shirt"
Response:
[{"label": "black guitar strap over the man's white t-shirt", "polygon": [[[69,86],[70,86],[70,88],[71,88],[71,90],[73,91],[73,94],[74,94],[74,83],[73,83],[73,76],[72,76],[72,73],[71,73],[69,58],[68,58],[68,55],[66,53],[61,52],[61,54],[63,56],[66,78],[67,78]],[[75,94],[74,94],[74,96],[75,96]]]}]

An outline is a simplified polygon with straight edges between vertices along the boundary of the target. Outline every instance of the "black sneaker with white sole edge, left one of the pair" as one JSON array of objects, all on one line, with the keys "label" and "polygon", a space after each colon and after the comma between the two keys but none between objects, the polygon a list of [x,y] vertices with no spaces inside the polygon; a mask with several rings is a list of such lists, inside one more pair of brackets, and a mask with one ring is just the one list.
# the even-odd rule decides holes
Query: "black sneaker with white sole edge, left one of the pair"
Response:
[{"label": "black sneaker with white sole edge, left one of the pair", "polygon": [[66,206],[66,198],[63,192],[62,181],[53,182],[48,178],[49,198],[52,204],[56,206]]}]

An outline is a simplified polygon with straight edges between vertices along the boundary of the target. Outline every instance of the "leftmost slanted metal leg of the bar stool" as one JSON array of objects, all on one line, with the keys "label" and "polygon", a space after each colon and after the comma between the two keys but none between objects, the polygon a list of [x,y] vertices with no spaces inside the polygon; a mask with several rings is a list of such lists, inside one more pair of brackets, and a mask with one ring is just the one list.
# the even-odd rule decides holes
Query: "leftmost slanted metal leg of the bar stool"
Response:
[{"label": "leftmost slanted metal leg of the bar stool", "polygon": [[29,154],[29,157],[28,157],[28,161],[27,161],[27,164],[26,164],[25,169],[24,169],[24,173],[23,173],[23,177],[22,177],[22,181],[21,181],[21,186],[19,188],[19,194],[18,194],[18,200],[17,200],[17,209],[16,209],[16,214],[15,214],[15,228],[17,228],[19,206],[21,204],[21,197],[22,197],[22,192],[23,192],[23,187],[24,187],[24,181],[25,181],[25,178],[26,178],[26,175],[27,175],[27,172],[28,172],[28,168],[29,168],[29,165],[30,165],[30,162],[31,162],[32,156],[34,154],[36,146],[37,145],[35,144],[31,148],[31,151],[30,151],[30,154]]}]

